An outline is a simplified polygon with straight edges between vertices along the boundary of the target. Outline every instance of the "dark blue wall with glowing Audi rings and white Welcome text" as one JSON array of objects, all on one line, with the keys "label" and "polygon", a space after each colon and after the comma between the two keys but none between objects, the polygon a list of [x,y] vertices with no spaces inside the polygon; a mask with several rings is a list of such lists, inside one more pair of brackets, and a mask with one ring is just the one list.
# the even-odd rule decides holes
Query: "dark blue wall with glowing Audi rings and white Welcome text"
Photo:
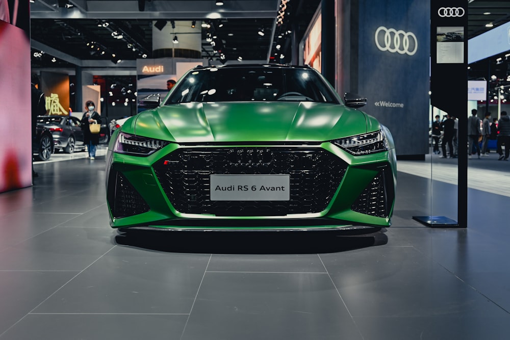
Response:
[{"label": "dark blue wall with glowing Audi rings and white Welcome text", "polygon": [[[346,81],[351,83],[345,87],[354,88],[368,98],[364,111],[390,128],[397,155],[429,151],[429,6],[423,0],[352,0],[347,14],[349,28],[344,27],[351,39],[350,60],[356,54],[358,57],[355,62],[347,63],[355,70],[350,70]],[[375,37],[380,27],[405,32],[409,38],[407,49],[403,46],[403,33],[399,35],[399,46],[394,44],[395,34],[389,35],[389,48],[408,53],[380,50]],[[383,49],[388,47],[384,36],[385,29],[380,29],[378,43]],[[415,47],[416,52],[412,54]]]}]

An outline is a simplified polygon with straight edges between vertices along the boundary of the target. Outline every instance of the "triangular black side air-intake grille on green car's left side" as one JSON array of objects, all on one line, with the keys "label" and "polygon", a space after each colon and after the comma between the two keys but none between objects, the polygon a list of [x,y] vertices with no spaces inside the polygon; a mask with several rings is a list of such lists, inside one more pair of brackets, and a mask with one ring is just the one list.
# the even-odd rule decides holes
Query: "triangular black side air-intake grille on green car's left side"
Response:
[{"label": "triangular black side air-intake grille on green car's left side", "polygon": [[120,172],[111,170],[108,181],[108,203],[114,218],[138,215],[150,210],[149,205]]}]

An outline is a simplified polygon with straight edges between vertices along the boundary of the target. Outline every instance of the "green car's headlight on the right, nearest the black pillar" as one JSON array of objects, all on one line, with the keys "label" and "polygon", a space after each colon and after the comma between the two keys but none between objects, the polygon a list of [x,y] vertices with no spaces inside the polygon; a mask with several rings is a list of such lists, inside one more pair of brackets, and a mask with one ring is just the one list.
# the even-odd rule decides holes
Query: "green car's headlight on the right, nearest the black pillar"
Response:
[{"label": "green car's headlight on the right, nearest the black pillar", "polygon": [[388,141],[383,129],[369,134],[336,139],[331,142],[356,156],[388,150]]}]

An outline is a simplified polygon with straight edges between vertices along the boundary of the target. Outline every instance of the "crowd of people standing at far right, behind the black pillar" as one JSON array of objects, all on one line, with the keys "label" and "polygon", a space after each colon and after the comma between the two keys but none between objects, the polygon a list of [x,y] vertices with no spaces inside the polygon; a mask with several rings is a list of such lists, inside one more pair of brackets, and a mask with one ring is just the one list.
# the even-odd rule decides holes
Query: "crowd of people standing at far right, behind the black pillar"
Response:
[{"label": "crowd of people standing at far right, behind the black pillar", "polygon": [[[436,115],[432,122],[432,153],[440,154],[440,158],[457,158],[458,156],[458,120],[454,114],[447,114],[440,120]],[[499,121],[487,112],[483,120],[478,118],[478,111],[471,110],[468,118],[468,158],[488,157],[489,141],[496,140],[499,161],[508,161],[510,155],[510,116],[501,111]],[[480,146],[481,143],[481,146]],[[441,150],[440,150],[441,146]],[[504,146],[504,154],[503,154]]]}]

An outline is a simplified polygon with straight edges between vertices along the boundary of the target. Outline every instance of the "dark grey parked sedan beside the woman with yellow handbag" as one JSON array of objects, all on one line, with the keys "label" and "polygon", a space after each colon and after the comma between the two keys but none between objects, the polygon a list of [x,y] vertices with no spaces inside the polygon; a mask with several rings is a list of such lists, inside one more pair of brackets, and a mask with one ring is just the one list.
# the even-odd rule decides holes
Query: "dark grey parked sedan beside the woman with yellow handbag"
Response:
[{"label": "dark grey parked sedan beside the woman with yellow handbag", "polygon": [[66,153],[85,149],[80,119],[72,116],[39,116],[37,124],[44,125],[53,135],[55,148]]}]

